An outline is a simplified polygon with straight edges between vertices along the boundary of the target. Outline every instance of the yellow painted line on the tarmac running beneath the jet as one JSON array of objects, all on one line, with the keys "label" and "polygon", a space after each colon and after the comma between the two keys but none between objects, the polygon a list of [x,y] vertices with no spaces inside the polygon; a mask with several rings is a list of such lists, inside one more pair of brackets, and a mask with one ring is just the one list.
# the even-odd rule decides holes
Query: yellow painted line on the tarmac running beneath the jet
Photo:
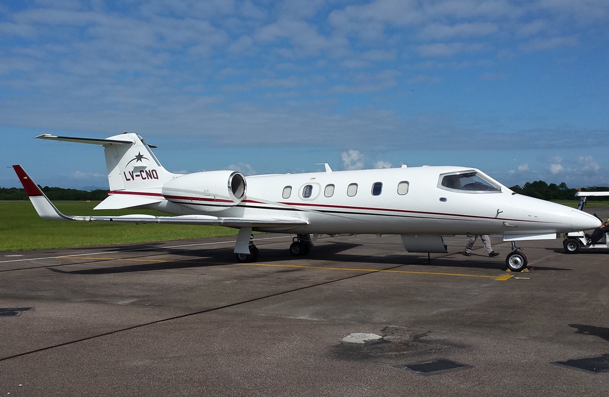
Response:
[{"label": "yellow painted line on the tarmac running beneath the jet", "polygon": [[[161,259],[137,259],[137,258],[70,258],[70,259],[93,259],[95,261],[134,261],[134,262],[180,262],[180,263],[197,263],[200,261],[167,261]],[[230,262],[205,262],[208,264],[227,264]],[[495,281],[506,281],[513,277],[513,275],[503,276],[485,276],[485,275],[469,275],[463,273],[442,273],[442,272],[416,272],[414,270],[395,270],[395,269],[362,269],[361,267],[327,267],[327,266],[308,266],[308,265],[286,265],[286,264],[269,264],[269,263],[236,263],[236,265],[247,265],[247,266],[268,266],[268,267],[292,267],[295,269],[319,269],[319,270],[343,270],[350,272],[370,272],[370,273],[402,273],[402,274],[417,274],[417,275],[434,275],[434,276],[457,276],[457,277],[474,277],[474,278],[493,278]]]}]

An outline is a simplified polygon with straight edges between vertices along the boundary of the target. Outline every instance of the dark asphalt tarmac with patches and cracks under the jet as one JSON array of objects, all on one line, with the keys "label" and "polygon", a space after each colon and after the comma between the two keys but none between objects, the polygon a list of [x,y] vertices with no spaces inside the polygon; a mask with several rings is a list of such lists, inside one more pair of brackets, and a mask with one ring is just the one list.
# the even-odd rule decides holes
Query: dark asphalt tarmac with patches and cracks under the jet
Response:
[{"label": "dark asphalt tarmac with patches and cracks under the jet", "polygon": [[0,395],[609,394],[609,250],[525,242],[511,273],[499,239],[233,241],[0,253]]}]

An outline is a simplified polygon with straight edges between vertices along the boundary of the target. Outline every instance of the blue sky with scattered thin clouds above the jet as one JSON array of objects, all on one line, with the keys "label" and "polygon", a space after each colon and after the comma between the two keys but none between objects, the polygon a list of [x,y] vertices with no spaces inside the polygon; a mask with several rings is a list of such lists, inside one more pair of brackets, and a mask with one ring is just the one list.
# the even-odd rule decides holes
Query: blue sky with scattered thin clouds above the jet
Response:
[{"label": "blue sky with scattered thin clouds above the jet", "polygon": [[137,132],[174,172],[471,166],[609,186],[607,0],[0,3],[0,186],[107,187]]}]

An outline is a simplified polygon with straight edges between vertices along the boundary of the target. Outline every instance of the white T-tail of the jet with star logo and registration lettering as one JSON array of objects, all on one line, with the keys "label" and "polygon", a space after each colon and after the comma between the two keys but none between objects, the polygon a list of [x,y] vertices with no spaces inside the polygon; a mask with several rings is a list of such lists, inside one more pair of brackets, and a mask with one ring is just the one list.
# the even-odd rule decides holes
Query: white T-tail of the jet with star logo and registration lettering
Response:
[{"label": "white T-tail of the jet with star logo and registration lettering", "polygon": [[179,174],[164,169],[150,146],[136,133],[123,133],[106,139],[74,138],[44,134],[51,141],[94,144],[104,147],[108,167],[108,198],[95,209],[120,209],[146,206],[164,200],[163,184]]}]

